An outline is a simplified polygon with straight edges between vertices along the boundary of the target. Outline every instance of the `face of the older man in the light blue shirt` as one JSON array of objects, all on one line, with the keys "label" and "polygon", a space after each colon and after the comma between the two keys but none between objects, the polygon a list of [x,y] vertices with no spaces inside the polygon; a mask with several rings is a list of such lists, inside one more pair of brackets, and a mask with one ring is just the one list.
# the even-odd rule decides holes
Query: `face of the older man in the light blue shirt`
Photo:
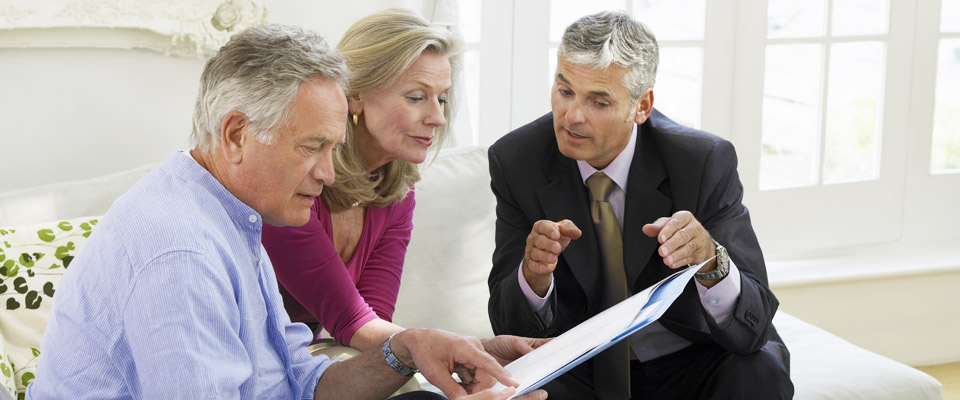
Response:
[{"label": "face of the older man in the light blue shirt", "polygon": [[347,100],[335,82],[311,80],[300,84],[290,111],[273,144],[245,133],[238,171],[241,200],[276,226],[306,224],[314,198],[333,183],[333,149],[343,143]]}]

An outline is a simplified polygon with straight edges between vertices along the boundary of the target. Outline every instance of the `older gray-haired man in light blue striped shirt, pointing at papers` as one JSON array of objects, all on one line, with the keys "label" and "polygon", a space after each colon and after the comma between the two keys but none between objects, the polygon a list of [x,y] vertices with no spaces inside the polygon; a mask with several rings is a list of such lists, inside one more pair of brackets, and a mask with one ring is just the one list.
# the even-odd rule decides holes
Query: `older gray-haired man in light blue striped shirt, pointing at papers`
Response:
[{"label": "older gray-haired man in light blue striped shirt, pointing at papers", "polygon": [[195,148],[120,197],[71,264],[28,398],[373,399],[417,368],[450,397],[513,393],[480,391],[516,382],[476,338],[411,329],[333,362],[284,311],[261,230],[303,225],[333,183],[347,73],[321,37],[277,25],[207,62]]}]

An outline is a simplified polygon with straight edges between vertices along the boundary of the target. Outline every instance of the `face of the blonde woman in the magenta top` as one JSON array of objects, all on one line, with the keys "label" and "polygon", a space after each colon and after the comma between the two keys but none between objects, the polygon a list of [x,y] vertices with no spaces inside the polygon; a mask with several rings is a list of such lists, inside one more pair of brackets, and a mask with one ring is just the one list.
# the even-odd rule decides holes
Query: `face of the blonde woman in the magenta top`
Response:
[{"label": "face of the blonde woman in the magenta top", "polygon": [[443,109],[450,90],[450,60],[424,52],[388,87],[351,99],[366,128],[357,131],[360,152],[370,170],[394,159],[421,163],[447,123]]}]

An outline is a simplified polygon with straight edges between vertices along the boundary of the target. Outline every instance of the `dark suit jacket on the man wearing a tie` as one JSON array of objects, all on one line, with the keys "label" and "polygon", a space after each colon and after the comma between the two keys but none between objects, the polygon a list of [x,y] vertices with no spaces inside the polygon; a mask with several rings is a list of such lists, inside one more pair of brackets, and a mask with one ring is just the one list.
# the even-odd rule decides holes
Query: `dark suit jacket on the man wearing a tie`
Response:
[{"label": "dark suit jacket on the man wearing a tie", "polygon": [[[657,240],[644,235],[641,227],[688,210],[729,250],[741,273],[741,293],[732,318],[721,327],[700,304],[691,281],[660,322],[693,343],[716,343],[738,354],[757,351],[768,340],[782,344],[771,322],[779,303],[770,292],[763,254],[741,204],[743,186],[733,145],[654,110],[638,126],[636,146],[623,222],[623,264],[632,293],[675,272],[657,254]],[[489,158],[497,197],[497,247],[488,280],[494,332],[551,337],[602,311],[601,255],[590,219],[590,195],[576,161],[557,148],[552,114],[498,140]],[[527,235],[541,219],[570,219],[583,231],[560,255],[554,271],[557,303],[549,325],[531,310],[517,282]],[[789,365],[787,357],[784,351],[784,365]]]}]

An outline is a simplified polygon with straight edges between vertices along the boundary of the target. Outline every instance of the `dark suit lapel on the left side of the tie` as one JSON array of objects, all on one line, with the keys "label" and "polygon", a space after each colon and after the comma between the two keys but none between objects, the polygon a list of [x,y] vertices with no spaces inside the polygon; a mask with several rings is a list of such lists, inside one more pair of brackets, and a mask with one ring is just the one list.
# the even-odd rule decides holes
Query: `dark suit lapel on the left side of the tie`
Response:
[{"label": "dark suit lapel on the left side of the tie", "polygon": [[544,216],[551,221],[569,219],[583,232],[560,256],[566,260],[587,298],[598,298],[591,288],[596,288],[600,279],[595,271],[600,268],[600,250],[590,218],[587,188],[580,179],[577,162],[565,157],[554,145],[554,151],[542,168],[550,180],[549,184],[537,190]]}]

